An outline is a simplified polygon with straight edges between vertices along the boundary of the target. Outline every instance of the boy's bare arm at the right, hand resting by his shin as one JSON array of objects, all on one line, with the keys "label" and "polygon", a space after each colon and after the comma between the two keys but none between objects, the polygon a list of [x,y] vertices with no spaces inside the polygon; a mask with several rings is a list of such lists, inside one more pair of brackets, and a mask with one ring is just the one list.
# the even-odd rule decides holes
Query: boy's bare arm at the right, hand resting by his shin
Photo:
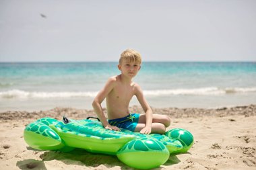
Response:
[{"label": "boy's bare arm at the right, hand resting by his shin", "polygon": [[141,107],[143,108],[144,112],[146,113],[146,126],[145,128],[141,129],[142,134],[150,134],[151,133],[151,127],[152,127],[152,110],[150,108],[150,105],[148,105],[148,102],[146,101],[146,98],[143,95],[143,92],[139,85],[136,85],[136,93],[135,93],[139,103],[141,104]]}]

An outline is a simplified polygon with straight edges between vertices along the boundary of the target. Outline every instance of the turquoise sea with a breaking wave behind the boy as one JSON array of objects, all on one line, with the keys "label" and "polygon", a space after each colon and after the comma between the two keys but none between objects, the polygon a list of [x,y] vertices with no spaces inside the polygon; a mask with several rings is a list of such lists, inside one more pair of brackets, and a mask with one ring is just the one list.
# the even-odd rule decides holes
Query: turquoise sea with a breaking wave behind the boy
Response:
[{"label": "turquoise sea with a breaking wave behind the boy", "polygon": [[[117,64],[0,62],[0,111],[92,109],[108,77],[120,74]],[[143,62],[134,81],[154,108],[256,104],[256,62]]]}]

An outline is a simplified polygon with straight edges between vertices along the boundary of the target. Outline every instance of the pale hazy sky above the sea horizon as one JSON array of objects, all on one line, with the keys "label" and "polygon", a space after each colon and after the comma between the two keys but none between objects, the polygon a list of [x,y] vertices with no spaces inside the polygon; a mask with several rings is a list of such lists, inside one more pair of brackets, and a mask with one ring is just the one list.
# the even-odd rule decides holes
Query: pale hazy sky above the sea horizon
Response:
[{"label": "pale hazy sky above the sea horizon", "polygon": [[255,61],[255,0],[0,0],[0,62]]}]

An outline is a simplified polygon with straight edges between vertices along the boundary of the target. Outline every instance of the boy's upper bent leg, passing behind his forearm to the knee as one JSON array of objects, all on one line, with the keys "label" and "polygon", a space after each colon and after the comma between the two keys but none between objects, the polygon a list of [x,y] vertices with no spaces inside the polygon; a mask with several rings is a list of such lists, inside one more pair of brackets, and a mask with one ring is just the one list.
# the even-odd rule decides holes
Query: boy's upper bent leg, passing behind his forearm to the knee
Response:
[{"label": "boy's upper bent leg, passing behind his forearm to the knee", "polygon": [[[170,118],[166,115],[161,114],[153,114],[152,115],[152,129],[154,123],[164,124],[165,128],[170,126]],[[146,124],[146,114],[139,115],[139,122],[138,124]]]}]

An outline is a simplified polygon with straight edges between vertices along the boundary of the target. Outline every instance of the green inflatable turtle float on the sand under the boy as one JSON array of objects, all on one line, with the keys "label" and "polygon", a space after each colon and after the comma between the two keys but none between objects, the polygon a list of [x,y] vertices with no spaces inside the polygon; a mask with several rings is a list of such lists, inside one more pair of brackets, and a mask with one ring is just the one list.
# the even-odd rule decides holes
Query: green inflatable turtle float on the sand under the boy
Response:
[{"label": "green inflatable turtle float on the sand under the boy", "polygon": [[151,169],[164,164],[170,153],[185,153],[193,145],[193,136],[184,129],[166,134],[140,134],[129,130],[106,130],[96,120],[41,118],[28,124],[24,140],[43,151],[72,151],[84,148],[92,153],[117,155],[120,161],[137,169]]}]

